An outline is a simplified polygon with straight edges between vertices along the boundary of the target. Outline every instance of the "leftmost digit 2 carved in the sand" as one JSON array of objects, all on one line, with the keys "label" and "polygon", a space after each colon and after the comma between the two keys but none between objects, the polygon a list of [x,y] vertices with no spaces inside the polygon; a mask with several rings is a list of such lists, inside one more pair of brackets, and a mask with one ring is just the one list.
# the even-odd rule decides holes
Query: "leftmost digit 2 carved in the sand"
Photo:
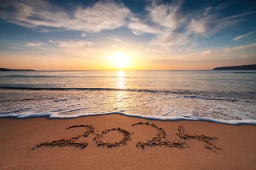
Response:
[{"label": "leftmost digit 2 carved in the sand", "polygon": [[39,145],[36,145],[36,147],[34,147],[33,149],[36,149],[36,148],[42,147],[42,146],[45,146],[45,147],[47,147],[47,146],[51,146],[51,147],[54,147],[54,146],[86,147],[87,146],[86,142],[76,142],[76,141],[82,136],[87,137],[88,135],[90,135],[90,133],[93,134],[95,128],[92,125],[73,125],[73,126],[66,128],[65,130],[68,130],[71,128],[87,128],[88,130],[86,132],[84,132],[82,135],[78,135],[76,137],[70,137],[69,139],[53,140],[52,142],[43,142]]}]

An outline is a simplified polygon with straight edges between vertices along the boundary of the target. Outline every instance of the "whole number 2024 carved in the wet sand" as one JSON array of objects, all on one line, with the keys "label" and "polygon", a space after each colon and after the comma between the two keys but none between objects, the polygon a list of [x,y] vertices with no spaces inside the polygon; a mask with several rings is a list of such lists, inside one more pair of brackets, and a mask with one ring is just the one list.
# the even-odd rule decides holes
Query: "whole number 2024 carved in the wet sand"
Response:
[{"label": "whole number 2024 carved in the wet sand", "polygon": [[[156,125],[154,125],[154,123],[150,124],[150,123],[136,123],[133,124],[132,126],[135,125],[149,125],[153,128],[156,128],[157,130],[157,134],[155,137],[153,137],[151,140],[147,140],[147,142],[138,142],[137,143],[137,147],[141,147],[144,148],[146,147],[152,147],[152,146],[164,146],[164,147],[178,147],[178,148],[185,148],[185,147],[189,147],[186,140],[191,140],[191,139],[195,139],[195,140],[199,140],[204,142],[205,147],[207,149],[213,150],[213,152],[216,152],[216,149],[220,149],[219,147],[216,147],[215,145],[213,145],[213,143],[211,141],[217,139],[217,137],[209,137],[206,135],[188,135],[185,134],[185,130],[183,129],[183,127],[180,125],[178,128],[178,132],[176,132],[176,135],[181,139],[184,140],[184,142],[181,141],[172,141],[170,142],[169,140],[166,139],[166,132],[164,131],[163,128],[159,128]],[[86,142],[78,142],[77,140],[84,136],[87,137],[88,135],[90,135],[90,133],[92,133],[92,135],[96,135],[93,140],[95,140],[96,144],[98,147],[102,146],[102,147],[119,147],[120,145],[127,145],[127,142],[129,140],[131,140],[131,133],[127,130],[123,130],[122,128],[112,128],[109,130],[104,130],[102,131],[100,134],[95,133],[95,128],[92,125],[73,125],[70,126],[69,128],[66,128],[66,130],[71,129],[71,128],[87,128],[87,130],[85,131],[85,133],[83,133],[82,135],[78,135],[75,137],[70,137],[69,139],[61,139],[61,140],[53,140],[52,142],[43,142],[39,145],[36,145],[36,147],[34,147],[33,149],[36,149],[38,147],[42,147],[42,146],[76,146],[76,147],[86,147],[87,143]],[[122,134],[124,135],[123,139],[119,142],[104,142],[102,141],[102,137],[104,135],[106,135],[108,132],[110,131],[114,131],[117,130],[118,132],[122,132]]]}]

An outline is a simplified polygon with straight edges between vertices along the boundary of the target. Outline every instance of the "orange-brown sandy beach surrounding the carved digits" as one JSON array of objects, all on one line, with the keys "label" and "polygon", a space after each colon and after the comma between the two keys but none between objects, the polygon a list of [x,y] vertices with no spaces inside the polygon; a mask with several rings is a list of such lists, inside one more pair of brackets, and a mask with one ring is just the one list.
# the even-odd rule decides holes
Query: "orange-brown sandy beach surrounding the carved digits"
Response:
[{"label": "orange-brown sandy beach surrounding the carved digits", "polygon": [[[186,147],[136,147],[138,142],[151,140],[158,133],[150,125],[163,128],[169,141],[186,142]],[[97,115],[75,119],[1,118],[1,169],[254,169],[256,166],[256,126],[225,125],[203,121],[159,121],[131,118],[124,115]],[[95,134],[112,128],[130,132],[127,145],[97,147],[90,133],[77,142],[87,147],[45,147],[33,149],[42,142],[82,135],[87,128],[66,128],[92,125]],[[176,135],[182,125],[184,134],[218,137],[211,141],[221,149],[207,149],[205,142],[181,140]],[[119,142],[125,136],[112,130],[102,137],[104,142]],[[166,140],[162,139],[162,140]],[[215,151],[215,152],[214,152]]]}]

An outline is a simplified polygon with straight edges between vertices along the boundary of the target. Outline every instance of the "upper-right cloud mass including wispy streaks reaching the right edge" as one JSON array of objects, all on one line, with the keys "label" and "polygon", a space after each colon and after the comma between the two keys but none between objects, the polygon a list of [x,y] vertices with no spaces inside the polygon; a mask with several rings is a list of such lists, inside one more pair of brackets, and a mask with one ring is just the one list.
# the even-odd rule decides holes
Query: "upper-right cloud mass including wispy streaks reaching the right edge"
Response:
[{"label": "upper-right cloud mass including wispy streaks reaching the right edge", "polygon": [[[184,15],[181,10],[181,2],[157,5],[156,1],[152,1],[154,5],[146,7],[146,17],[133,18],[127,27],[135,35],[153,34],[154,38],[149,42],[149,45],[181,46],[191,42],[193,35],[208,38],[244,21],[244,16],[255,13],[252,11],[220,18],[221,10],[228,6],[227,4],[220,4],[219,6],[209,6],[200,12]],[[178,30],[181,27],[186,28],[186,30]]]}]

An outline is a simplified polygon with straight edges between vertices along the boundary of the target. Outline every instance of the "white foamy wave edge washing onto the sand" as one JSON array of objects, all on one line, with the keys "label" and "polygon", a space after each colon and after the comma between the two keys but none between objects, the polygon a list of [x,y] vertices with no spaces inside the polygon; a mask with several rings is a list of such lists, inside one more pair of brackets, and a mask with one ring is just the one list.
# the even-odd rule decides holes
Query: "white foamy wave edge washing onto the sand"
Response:
[{"label": "white foamy wave edge washing onto the sand", "polygon": [[218,120],[213,118],[203,118],[203,117],[194,117],[194,116],[176,116],[176,117],[156,117],[150,115],[139,115],[139,114],[129,114],[124,112],[110,112],[110,113],[91,113],[83,115],[60,115],[58,113],[21,113],[21,114],[1,114],[0,118],[37,118],[48,116],[49,118],[80,118],[86,116],[96,116],[96,115],[125,115],[133,118],[144,118],[150,120],[197,120],[197,121],[208,121],[215,123],[223,123],[228,125],[256,125],[256,120]]}]

